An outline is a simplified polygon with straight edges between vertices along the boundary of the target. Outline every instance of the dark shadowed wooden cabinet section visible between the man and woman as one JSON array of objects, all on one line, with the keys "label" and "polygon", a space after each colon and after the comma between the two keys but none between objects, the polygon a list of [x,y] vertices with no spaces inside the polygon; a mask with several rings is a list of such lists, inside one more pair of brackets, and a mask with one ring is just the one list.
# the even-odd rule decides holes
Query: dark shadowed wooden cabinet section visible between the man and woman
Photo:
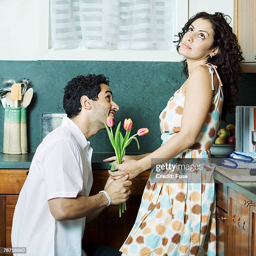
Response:
[{"label": "dark shadowed wooden cabinet section visible between the man and woman", "polygon": [[[131,195],[126,202],[127,210],[119,218],[118,205],[107,207],[92,223],[86,224],[83,242],[97,243],[119,249],[135,223],[141,196],[150,171],[138,175],[132,180]],[[90,195],[102,190],[108,179],[107,170],[93,170],[93,185]]]}]

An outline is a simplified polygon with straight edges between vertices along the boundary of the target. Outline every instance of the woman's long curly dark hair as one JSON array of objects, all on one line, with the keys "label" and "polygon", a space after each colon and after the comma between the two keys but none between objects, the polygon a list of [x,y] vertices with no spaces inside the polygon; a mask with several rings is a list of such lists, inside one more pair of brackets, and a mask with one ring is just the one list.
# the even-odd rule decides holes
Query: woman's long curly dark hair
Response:
[{"label": "woman's long curly dark hair", "polygon": [[[188,31],[189,26],[199,18],[210,21],[214,31],[212,48],[219,46],[218,54],[212,56],[212,58],[209,56],[208,62],[218,67],[218,73],[223,83],[224,102],[221,120],[226,122],[227,113],[233,113],[235,110],[235,100],[239,87],[238,80],[241,77],[239,62],[244,60],[243,53],[236,35],[229,26],[230,16],[224,13],[209,14],[206,12],[200,12],[192,16],[182,28],[182,32],[178,33],[179,40],[174,41],[174,43],[178,43],[176,45],[178,52],[184,34]],[[183,73],[188,77],[187,60],[184,58],[182,62],[184,64]]]}]

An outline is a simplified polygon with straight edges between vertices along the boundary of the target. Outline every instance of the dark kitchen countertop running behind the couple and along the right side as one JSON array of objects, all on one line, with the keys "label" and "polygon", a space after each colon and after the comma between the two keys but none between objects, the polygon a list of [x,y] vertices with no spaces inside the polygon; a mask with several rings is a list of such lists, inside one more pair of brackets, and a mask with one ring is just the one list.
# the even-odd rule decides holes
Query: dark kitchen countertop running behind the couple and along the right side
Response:
[{"label": "dark kitchen countertop running behind the couple and along the right side", "polygon": [[[29,169],[35,153],[10,155],[0,153],[0,169]],[[140,153],[144,154],[144,153]],[[114,153],[92,153],[92,169],[109,169],[109,164],[102,162],[103,159],[113,156]],[[134,154],[135,155],[135,154]],[[218,172],[214,172],[216,182],[226,184],[228,187],[241,193],[249,200],[256,202],[256,182],[236,182],[228,179]]]}]

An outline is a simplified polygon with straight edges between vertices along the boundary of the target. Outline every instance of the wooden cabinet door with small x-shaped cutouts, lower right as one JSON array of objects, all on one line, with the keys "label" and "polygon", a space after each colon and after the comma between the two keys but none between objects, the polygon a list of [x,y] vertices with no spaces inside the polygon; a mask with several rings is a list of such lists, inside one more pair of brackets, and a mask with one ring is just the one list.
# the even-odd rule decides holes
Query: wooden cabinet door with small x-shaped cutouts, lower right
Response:
[{"label": "wooden cabinet door with small x-shaped cutouts, lower right", "polygon": [[229,236],[228,255],[249,255],[250,207],[248,198],[228,188]]}]

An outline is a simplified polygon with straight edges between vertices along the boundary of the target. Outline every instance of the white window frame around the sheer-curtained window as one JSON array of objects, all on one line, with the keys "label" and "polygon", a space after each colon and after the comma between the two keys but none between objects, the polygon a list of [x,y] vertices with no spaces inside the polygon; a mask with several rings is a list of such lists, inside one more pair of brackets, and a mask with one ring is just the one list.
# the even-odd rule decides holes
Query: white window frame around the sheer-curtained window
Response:
[{"label": "white window frame around the sheer-curtained window", "polygon": [[[189,0],[175,0],[176,21],[174,33],[177,35],[188,20]],[[50,0],[38,1],[38,60],[70,61],[181,61],[176,49],[171,51],[148,50],[104,50],[104,49],[69,49],[54,51],[49,49],[50,35]],[[176,38],[176,37],[175,37]],[[175,39],[174,39],[175,40]]]}]

